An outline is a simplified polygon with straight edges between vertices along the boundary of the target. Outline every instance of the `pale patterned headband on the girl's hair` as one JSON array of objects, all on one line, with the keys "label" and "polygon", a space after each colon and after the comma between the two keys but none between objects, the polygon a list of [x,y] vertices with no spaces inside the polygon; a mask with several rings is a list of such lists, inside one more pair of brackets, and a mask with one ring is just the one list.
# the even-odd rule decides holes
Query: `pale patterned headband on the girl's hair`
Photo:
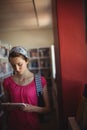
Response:
[{"label": "pale patterned headband on the girl's hair", "polygon": [[27,53],[27,50],[23,47],[20,47],[20,46],[16,46],[16,47],[13,47],[9,54],[13,53],[13,52],[17,52],[19,54],[22,54],[23,56],[25,56],[26,58],[29,58],[28,56],[28,53]]}]

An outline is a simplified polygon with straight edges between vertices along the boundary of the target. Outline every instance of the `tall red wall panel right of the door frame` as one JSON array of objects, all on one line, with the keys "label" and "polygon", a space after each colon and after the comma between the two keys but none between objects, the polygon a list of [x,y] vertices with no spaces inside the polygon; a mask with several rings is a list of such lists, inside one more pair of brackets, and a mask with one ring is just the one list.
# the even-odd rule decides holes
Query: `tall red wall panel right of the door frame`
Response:
[{"label": "tall red wall panel right of the door frame", "polygon": [[58,0],[58,32],[64,110],[76,113],[87,82],[85,18],[82,0]]}]

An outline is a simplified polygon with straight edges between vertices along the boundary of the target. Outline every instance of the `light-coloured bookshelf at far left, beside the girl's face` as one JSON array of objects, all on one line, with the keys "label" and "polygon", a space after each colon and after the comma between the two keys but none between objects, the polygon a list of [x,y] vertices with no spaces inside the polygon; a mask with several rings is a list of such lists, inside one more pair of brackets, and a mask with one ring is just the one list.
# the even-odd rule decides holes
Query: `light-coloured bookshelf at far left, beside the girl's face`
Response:
[{"label": "light-coloured bookshelf at far left, beside the girl's face", "polygon": [[10,44],[0,40],[0,98],[3,96],[2,81],[11,75],[12,68],[8,62]]}]

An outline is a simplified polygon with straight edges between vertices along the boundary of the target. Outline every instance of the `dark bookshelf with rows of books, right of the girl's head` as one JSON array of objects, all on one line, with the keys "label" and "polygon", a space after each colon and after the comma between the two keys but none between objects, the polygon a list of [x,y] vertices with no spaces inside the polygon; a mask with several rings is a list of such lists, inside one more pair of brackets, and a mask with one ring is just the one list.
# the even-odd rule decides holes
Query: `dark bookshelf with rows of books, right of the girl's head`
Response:
[{"label": "dark bookshelf with rows of books, right of the girl's head", "polygon": [[40,72],[42,76],[45,76],[48,87],[50,87],[52,85],[50,47],[29,49],[28,53],[30,71],[33,73]]}]

